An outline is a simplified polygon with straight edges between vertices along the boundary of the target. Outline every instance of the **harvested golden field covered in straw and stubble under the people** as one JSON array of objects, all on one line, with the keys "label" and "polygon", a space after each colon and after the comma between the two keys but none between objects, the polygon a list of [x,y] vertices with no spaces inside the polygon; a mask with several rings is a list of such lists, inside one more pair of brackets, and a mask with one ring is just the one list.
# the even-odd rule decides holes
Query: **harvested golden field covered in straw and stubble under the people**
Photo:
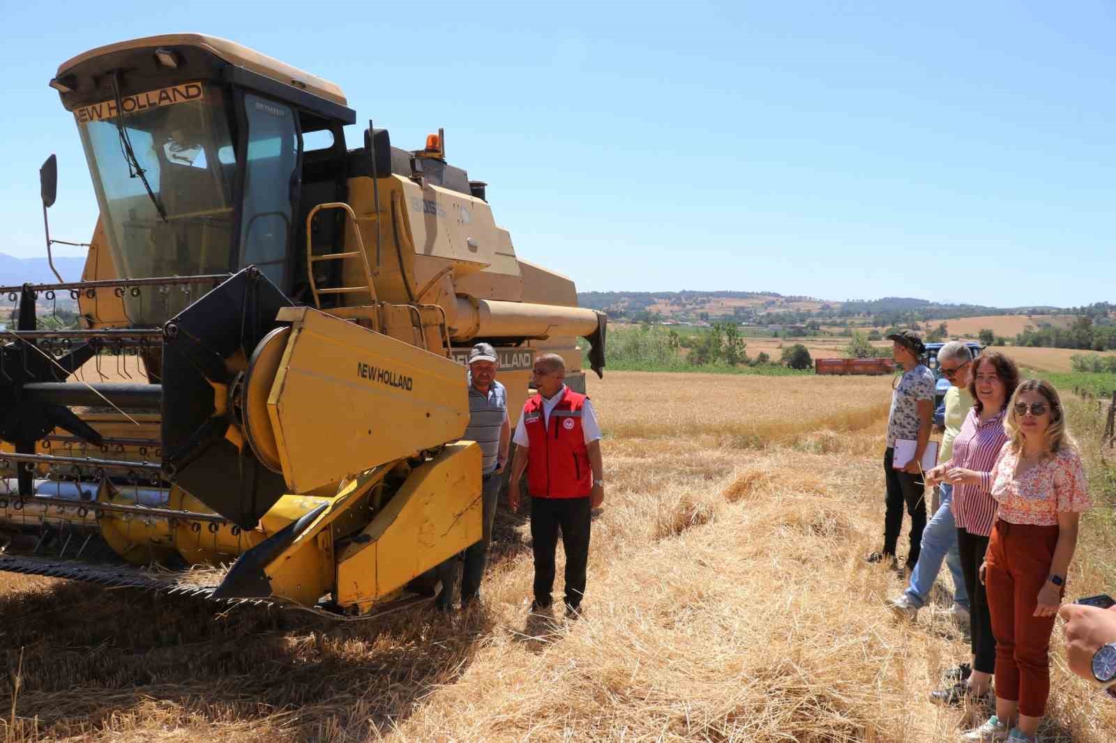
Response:
[{"label": "harvested golden field covered in straw and stubble under the people", "polygon": [[[451,619],[213,616],[6,576],[0,640],[21,683],[15,704],[10,686],[0,698],[15,715],[0,730],[7,742],[954,740],[961,713],[926,701],[966,655],[947,587],[899,625],[883,606],[898,577],[862,559],[878,547],[887,383],[594,378],[608,485],[573,623],[528,618],[529,533],[511,514],[483,607]],[[1110,590],[1099,576],[1116,544],[1088,519],[1081,539],[1074,594]],[[1061,657],[1056,633],[1043,740],[1116,741],[1116,704]]]}]

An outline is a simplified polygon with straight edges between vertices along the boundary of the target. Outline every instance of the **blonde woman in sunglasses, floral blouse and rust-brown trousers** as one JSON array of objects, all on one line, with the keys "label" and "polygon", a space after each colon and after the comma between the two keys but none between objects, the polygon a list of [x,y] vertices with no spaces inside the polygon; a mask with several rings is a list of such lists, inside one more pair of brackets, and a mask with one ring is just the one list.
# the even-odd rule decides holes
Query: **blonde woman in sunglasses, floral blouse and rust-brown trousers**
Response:
[{"label": "blonde woman in sunglasses, floral blouse and rust-brown trousers", "polygon": [[1001,736],[1014,726],[1009,741],[1033,741],[1050,693],[1050,631],[1089,494],[1050,383],[1019,386],[1004,431],[1010,443],[992,472],[998,510],[981,567],[997,641],[995,715],[985,726]]}]

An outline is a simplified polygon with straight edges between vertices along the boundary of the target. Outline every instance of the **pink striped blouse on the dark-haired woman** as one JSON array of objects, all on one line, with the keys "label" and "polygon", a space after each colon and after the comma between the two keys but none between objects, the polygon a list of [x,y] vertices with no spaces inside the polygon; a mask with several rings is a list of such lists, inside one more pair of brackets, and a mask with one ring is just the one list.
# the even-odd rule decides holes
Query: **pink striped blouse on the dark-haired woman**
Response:
[{"label": "pink striped blouse on the dark-haired woman", "polygon": [[953,486],[953,519],[958,529],[964,529],[970,534],[988,537],[992,533],[992,520],[995,517],[995,501],[992,499],[992,469],[1000,455],[1000,450],[1008,441],[1003,431],[1003,416],[1000,414],[981,423],[977,409],[969,411],[961,433],[953,440],[953,456],[950,466],[964,467],[981,473],[980,483],[966,485],[959,483]]}]

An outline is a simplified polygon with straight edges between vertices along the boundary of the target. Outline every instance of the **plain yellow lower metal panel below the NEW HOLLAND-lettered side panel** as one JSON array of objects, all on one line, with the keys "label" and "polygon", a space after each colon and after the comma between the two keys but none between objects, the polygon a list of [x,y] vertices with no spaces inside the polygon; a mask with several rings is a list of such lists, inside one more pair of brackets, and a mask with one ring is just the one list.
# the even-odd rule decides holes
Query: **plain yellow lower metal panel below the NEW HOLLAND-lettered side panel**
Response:
[{"label": "plain yellow lower metal panel below the NEW HOLLAND-lettered side panel", "polygon": [[395,496],[337,556],[336,598],[366,605],[481,539],[481,450],[448,445],[415,467]]}]

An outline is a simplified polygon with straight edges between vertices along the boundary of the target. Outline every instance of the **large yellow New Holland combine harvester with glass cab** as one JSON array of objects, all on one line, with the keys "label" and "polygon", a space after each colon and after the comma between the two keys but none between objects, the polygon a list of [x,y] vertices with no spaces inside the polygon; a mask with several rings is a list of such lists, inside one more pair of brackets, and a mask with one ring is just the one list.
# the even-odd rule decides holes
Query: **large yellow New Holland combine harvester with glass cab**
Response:
[{"label": "large yellow New Holland combine harvester with glass cab", "polygon": [[[80,282],[0,289],[0,570],[346,616],[432,592],[481,537],[463,355],[499,349],[518,411],[538,350],[584,385],[587,338],[600,373],[604,315],[517,259],[441,133],[347,147],[327,80],[185,33],[50,85],[100,219]],[[44,213],[56,180],[51,156]],[[37,317],[65,292],[79,329]],[[90,372],[121,354],[145,378]]]}]

